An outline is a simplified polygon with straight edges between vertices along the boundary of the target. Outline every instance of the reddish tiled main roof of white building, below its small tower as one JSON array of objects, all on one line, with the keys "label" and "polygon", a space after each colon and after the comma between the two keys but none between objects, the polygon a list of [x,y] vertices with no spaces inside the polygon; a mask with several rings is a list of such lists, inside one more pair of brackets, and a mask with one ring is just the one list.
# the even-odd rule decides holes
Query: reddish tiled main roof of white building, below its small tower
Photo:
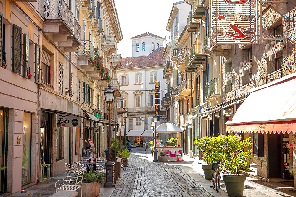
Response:
[{"label": "reddish tiled main roof of white building, below its small tower", "polygon": [[165,65],[166,61],[162,58],[164,50],[164,47],[160,47],[148,56],[121,58],[122,66],[120,69]]}]

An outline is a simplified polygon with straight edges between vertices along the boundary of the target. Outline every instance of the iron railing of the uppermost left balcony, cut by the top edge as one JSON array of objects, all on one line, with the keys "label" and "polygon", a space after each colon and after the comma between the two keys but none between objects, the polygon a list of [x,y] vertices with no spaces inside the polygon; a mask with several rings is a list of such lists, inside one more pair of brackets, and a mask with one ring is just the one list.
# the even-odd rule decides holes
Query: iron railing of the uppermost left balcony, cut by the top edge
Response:
[{"label": "iron railing of the uppermost left balcony, cut by the top edge", "polygon": [[46,21],[63,21],[70,30],[73,30],[71,19],[73,14],[64,0],[43,0],[40,14]]}]

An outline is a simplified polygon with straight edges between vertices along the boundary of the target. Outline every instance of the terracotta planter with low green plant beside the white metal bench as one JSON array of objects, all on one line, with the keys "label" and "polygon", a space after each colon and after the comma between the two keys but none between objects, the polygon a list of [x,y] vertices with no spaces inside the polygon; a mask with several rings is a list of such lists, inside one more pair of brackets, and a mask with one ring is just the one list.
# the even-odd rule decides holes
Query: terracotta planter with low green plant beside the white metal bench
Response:
[{"label": "terracotta planter with low green plant beside the white metal bench", "polygon": [[[88,197],[96,197],[100,193],[100,184],[103,183],[105,175],[100,174],[99,172],[84,172],[83,180],[81,184],[82,188],[82,196],[88,196]],[[80,181],[78,179],[78,181]],[[80,189],[77,190],[78,196],[80,196]]]}]

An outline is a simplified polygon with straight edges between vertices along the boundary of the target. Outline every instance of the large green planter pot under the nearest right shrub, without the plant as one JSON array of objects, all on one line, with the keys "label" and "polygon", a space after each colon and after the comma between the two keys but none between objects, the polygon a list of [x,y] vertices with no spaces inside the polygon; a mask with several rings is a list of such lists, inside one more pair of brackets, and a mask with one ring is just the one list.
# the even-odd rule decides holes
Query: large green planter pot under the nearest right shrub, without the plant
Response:
[{"label": "large green planter pot under the nearest right shrub, without the plant", "polygon": [[246,175],[223,175],[223,181],[227,190],[228,196],[242,196],[244,193],[244,181],[246,180]]}]

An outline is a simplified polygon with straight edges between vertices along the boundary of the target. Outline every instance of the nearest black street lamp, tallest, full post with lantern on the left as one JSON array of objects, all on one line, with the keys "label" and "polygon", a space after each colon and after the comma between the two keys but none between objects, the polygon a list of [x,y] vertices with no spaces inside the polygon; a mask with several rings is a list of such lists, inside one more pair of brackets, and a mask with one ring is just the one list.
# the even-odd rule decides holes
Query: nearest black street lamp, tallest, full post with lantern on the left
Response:
[{"label": "nearest black street lamp, tallest, full post with lantern on the left", "polygon": [[[108,104],[108,119],[109,119],[109,128],[108,128],[108,149],[105,150],[107,162],[106,166],[106,182],[104,184],[105,188],[115,187],[113,182],[113,167],[114,163],[111,161],[111,105],[114,99],[114,90],[111,88],[111,85],[108,85],[108,88],[105,89],[105,101]],[[115,142],[116,144],[116,142]],[[115,153],[116,154],[116,153]]]}]

